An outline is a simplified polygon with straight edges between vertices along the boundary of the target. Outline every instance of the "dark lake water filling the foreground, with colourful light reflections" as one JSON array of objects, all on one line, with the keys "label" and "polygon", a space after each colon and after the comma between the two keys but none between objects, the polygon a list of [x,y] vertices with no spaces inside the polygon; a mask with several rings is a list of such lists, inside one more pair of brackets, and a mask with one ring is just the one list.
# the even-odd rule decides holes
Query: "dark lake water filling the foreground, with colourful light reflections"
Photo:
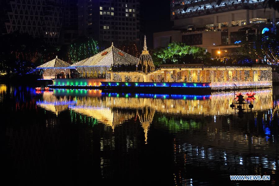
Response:
[{"label": "dark lake water filling the foreground, with colourful light reflections", "polygon": [[233,93],[36,92],[2,84],[2,176],[11,185],[278,185],[277,89],[255,91],[254,109],[239,117],[229,107]]}]

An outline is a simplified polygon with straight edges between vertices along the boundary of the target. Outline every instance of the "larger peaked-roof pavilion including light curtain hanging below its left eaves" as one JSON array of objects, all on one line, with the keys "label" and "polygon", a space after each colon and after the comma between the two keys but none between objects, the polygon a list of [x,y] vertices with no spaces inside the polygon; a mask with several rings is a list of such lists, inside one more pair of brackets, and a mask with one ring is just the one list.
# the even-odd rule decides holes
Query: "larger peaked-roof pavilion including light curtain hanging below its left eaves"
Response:
[{"label": "larger peaked-roof pavilion including light curtain hanging below its left eaves", "polygon": [[138,58],[119,50],[112,43],[109,48],[87,59],[74,63],[70,67],[75,68],[79,73],[86,73],[88,77],[91,77],[94,74],[105,74],[111,68],[111,65],[138,64],[138,61]]}]

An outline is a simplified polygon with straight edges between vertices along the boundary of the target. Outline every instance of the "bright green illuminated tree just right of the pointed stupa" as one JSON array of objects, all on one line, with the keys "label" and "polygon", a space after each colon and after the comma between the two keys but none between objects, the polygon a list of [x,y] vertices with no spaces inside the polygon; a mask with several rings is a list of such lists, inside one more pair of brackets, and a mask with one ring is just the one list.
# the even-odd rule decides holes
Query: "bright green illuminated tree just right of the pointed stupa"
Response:
[{"label": "bright green illuminated tree just right of the pointed stupa", "polygon": [[161,63],[167,64],[199,63],[210,58],[204,48],[188,46],[181,42],[172,42],[168,47],[158,48],[153,56],[154,63],[161,60]]}]

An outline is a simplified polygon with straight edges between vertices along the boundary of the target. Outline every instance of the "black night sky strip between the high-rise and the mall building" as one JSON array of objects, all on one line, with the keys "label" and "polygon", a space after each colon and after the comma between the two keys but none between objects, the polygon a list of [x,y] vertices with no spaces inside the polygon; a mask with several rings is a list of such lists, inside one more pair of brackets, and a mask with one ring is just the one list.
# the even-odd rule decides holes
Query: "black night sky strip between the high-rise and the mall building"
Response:
[{"label": "black night sky strip between the high-rise and the mall building", "polygon": [[171,30],[170,1],[142,0],[144,29],[148,48],[153,48],[153,33]]}]

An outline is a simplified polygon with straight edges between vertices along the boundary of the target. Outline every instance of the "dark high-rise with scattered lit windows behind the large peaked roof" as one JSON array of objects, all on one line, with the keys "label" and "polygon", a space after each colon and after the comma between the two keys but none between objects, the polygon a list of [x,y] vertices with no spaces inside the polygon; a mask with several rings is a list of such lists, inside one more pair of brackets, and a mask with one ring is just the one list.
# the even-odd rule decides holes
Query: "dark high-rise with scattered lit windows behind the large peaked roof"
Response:
[{"label": "dark high-rise with scattered lit windows behind the large peaked roof", "polygon": [[143,46],[140,0],[79,0],[79,35]]}]

